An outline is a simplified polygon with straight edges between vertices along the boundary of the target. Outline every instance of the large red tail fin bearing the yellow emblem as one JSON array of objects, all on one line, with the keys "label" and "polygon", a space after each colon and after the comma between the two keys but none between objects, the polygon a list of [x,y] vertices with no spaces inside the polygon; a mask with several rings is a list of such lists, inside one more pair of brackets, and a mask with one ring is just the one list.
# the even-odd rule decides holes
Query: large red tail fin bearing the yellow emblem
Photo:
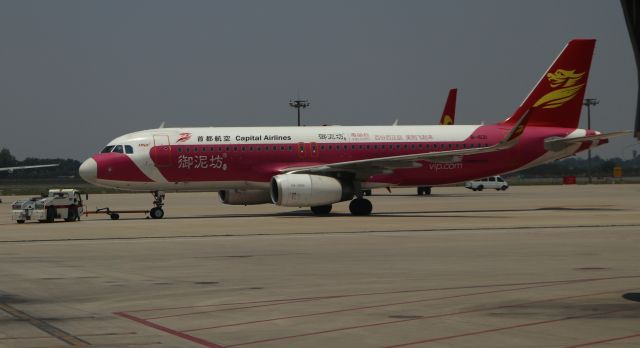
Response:
[{"label": "large red tail fin bearing the yellow emblem", "polygon": [[578,128],[595,44],[595,39],[569,41],[535,88],[503,124],[515,124],[531,109],[531,126]]}]

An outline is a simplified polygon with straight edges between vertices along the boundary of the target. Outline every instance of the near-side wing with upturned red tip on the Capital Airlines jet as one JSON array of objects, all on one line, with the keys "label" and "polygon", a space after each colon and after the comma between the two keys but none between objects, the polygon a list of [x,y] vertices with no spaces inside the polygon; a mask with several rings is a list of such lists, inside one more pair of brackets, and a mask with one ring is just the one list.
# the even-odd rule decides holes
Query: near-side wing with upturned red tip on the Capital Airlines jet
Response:
[{"label": "near-side wing with upturned red tip on the Capital Airlines jet", "polygon": [[398,168],[416,168],[422,166],[416,161],[431,161],[431,162],[459,162],[462,160],[462,156],[478,155],[482,153],[489,153],[508,149],[517,144],[520,136],[524,133],[524,128],[531,115],[530,111],[527,111],[524,117],[522,117],[518,123],[511,129],[509,134],[496,145],[471,148],[471,149],[459,149],[449,151],[432,151],[424,153],[416,153],[410,155],[390,156],[390,157],[377,157],[363,160],[327,163],[316,166],[306,167],[292,167],[283,169],[284,173],[313,173],[326,175],[336,172],[352,172],[358,179],[366,179],[371,175],[389,173]]}]

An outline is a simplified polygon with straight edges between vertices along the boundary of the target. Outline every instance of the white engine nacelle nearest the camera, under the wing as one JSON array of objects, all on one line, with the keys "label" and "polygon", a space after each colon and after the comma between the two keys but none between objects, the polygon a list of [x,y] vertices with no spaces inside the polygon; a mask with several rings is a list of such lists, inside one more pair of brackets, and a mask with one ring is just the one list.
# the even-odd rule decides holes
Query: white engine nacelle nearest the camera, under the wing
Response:
[{"label": "white engine nacelle nearest the camera, under the wing", "polygon": [[349,200],[353,189],[335,178],[281,174],[271,178],[271,201],[285,207],[315,207]]}]

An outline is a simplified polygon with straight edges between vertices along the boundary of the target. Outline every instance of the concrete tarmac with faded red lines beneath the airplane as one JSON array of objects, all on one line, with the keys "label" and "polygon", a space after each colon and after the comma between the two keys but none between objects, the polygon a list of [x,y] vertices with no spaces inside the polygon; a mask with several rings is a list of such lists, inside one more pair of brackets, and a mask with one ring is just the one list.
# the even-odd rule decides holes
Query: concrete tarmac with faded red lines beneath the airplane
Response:
[{"label": "concrete tarmac with faded red lines beneath the airplane", "polygon": [[3,197],[0,347],[640,346],[640,185],[413,193],[22,225]]}]

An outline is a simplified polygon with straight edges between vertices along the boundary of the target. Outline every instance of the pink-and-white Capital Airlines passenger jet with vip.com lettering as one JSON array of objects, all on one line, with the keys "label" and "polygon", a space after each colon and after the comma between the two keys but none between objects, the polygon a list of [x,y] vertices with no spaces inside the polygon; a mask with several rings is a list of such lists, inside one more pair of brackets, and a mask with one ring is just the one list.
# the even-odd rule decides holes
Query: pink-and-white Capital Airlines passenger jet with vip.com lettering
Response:
[{"label": "pink-and-white Capital Airlines passenger jet with vip.com lettering", "polygon": [[79,168],[87,182],[154,196],[218,191],[231,205],[309,207],[316,215],[350,201],[370,215],[372,188],[442,185],[564,158],[628,131],[579,129],[594,39],[571,40],[522,104],[493,125],[200,127],[125,134]]}]

